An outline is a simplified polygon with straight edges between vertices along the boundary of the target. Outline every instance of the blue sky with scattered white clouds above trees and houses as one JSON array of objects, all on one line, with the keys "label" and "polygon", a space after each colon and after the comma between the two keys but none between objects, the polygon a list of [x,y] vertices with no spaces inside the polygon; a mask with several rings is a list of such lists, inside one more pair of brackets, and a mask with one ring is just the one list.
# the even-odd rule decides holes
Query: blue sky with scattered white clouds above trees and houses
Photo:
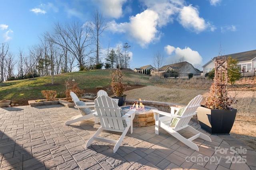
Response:
[{"label": "blue sky with scattered white clouds above trees and houses", "polygon": [[255,0],[0,0],[0,43],[16,56],[20,49],[28,54],[54,23],[92,21],[98,8],[108,25],[102,53],[128,43],[132,69],[152,65],[158,51],[165,64],[184,57],[202,66],[220,46],[222,55],[256,49],[255,6]]}]

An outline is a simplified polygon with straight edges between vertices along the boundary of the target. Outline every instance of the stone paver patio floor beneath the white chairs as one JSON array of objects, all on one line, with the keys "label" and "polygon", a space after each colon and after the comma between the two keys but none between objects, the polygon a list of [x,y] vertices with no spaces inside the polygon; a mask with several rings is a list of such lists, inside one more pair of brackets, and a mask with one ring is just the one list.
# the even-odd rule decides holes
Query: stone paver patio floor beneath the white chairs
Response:
[{"label": "stone paver patio floor beneath the white chairs", "polygon": [[[231,135],[210,135],[212,143],[202,139],[194,142],[199,152],[190,149],[163,129],[159,135],[154,126],[134,127],[113,154],[114,145],[87,140],[100,127],[94,118],[64,125],[78,110],[60,104],[49,106],[18,106],[0,108],[0,169],[199,169],[256,170],[256,152]],[[190,137],[190,133],[180,131]],[[102,135],[116,139],[121,133]],[[235,153],[236,150],[236,153]]]}]

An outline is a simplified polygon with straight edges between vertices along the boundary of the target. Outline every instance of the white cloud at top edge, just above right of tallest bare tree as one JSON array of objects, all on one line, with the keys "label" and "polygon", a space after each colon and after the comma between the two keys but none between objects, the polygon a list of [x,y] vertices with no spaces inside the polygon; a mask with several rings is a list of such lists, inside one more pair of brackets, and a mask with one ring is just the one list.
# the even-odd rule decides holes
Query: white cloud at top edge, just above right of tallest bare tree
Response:
[{"label": "white cloud at top edge, just above right of tallest bare tree", "polygon": [[120,18],[122,16],[122,5],[126,1],[127,0],[97,0],[96,3],[107,17]]}]

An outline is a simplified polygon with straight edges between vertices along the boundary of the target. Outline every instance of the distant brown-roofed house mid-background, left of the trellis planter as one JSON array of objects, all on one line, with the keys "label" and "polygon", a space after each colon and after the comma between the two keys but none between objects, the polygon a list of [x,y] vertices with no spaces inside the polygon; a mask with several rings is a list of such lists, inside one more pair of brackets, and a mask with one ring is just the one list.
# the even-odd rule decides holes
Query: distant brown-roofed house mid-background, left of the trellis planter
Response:
[{"label": "distant brown-roofed house mid-background, left of the trellis planter", "polygon": [[184,61],[181,63],[162,66],[161,68],[159,68],[159,70],[152,69],[150,74],[169,77],[168,73],[171,72],[172,70],[178,72],[178,76],[181,78],[188,76],[188,73],[193,73],[194,76],[200,76],[200,74],[202,73],[202,71],[194,68],[192,64]]}]

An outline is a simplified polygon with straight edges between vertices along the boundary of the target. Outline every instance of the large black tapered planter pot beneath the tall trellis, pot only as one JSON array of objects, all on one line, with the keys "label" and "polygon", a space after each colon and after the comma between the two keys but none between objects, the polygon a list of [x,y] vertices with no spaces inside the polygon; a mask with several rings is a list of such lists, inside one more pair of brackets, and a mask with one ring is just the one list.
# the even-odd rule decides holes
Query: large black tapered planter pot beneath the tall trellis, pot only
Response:
[{"label": "large black tapered planter pot beneath the tall trellis, pot only", "polygon": [[212,135],[227,135],[230,133],[236,118],[236,109],[208,109],[198,107],[197,117],[200,126]]}]

